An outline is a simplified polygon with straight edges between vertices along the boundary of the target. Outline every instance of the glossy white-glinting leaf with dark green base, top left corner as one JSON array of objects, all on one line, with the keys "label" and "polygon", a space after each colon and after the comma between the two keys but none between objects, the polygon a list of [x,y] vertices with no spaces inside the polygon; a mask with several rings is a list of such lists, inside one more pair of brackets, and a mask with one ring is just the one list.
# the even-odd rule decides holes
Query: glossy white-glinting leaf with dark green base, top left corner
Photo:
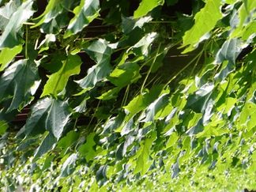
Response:
[{"label": "glossy white-glinting leaf with dark green base, top left corner", "polygon": [[2,32],[2,36],[0,36],[0,49],[4,47],[13,48],[21,44],[22,33],[19,34],[19,32],[22,24],[32,17],[34,13],[32,4],[32,0],[23,2],[22,5],[18,7],[17,11],[11,15],[8,24],[6,24]]}]

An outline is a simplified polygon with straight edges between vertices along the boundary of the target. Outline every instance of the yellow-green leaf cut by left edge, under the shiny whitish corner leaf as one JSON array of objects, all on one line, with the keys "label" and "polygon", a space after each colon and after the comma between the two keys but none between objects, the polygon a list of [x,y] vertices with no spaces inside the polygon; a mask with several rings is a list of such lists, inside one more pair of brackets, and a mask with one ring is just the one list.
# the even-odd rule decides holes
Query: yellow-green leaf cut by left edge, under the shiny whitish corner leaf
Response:
[{"label": "yellow-green leaf cut by left edge, under the shiny whitish corner leaf", "polygon": [[21,45],[17,45],[13,48],[3,48],[2,51],[0,52],[0,71],[5,70],[6,67],[9,65],[9,62],[11,62],[17,54],[21,53],[21,51]]}]

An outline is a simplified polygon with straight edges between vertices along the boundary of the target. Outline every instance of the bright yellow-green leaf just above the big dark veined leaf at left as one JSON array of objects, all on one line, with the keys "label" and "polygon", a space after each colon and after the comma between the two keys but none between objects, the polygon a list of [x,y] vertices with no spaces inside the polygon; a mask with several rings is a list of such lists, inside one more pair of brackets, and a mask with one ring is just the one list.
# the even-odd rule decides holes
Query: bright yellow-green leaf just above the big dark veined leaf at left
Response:
[{"label": "bright yellow-green leaf just above the big dark veined leaf at left", "polygon": [[63,62],[62,68],[49,77],[41,97],[51,94],[57,96],[66,87],[70,76],[80,73],[80,66],[81,58],[78,55],[69,55]]}]

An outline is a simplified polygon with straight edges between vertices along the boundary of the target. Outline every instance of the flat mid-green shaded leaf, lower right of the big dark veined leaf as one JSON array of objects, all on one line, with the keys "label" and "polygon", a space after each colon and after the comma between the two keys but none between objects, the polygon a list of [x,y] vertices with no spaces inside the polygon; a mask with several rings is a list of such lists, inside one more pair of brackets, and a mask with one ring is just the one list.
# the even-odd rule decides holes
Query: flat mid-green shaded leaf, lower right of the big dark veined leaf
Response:
[{"label": "flat mid-green shaded leaf, lower right of the big dark veined leaf", "polygon": [[82,156],[85,156],[85,160],[87,162],[89,160],[93,160],[93,158],[96,156],[96,151],[93,149],[93,147],[96,145],[94,141],[95,133],[91,133],[86,137],[86,142],[84,145],[81,145],[79,147],[78,151],[81,153]]}]

